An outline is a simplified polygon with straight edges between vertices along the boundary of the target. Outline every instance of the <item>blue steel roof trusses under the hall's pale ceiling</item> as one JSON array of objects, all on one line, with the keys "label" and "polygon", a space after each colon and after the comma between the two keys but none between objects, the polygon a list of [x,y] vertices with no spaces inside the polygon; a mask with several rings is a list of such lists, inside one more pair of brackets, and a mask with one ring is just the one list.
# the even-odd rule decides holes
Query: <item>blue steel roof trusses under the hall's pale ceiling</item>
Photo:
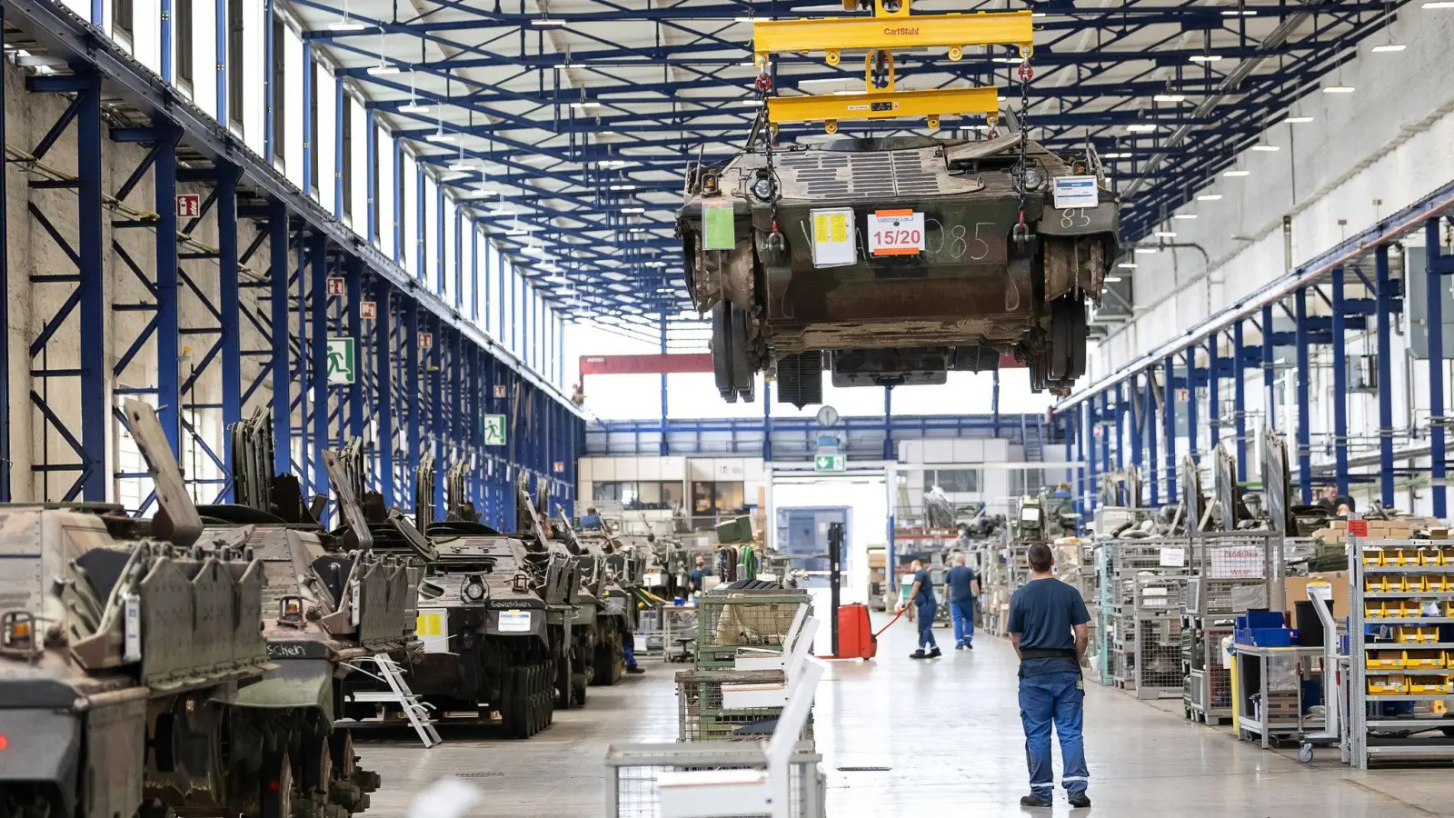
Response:
[{"label": "blue steel roof trusses under the hall's pale ceiling", "polygon": [[[699,148],[714,159],[730,154],[750,127],[755,112],[742,103],[752,99],[755,70],[731,73],[750,60],[750,35],[744,29],[731,33],[734,20],[792,16],[820,6],[813,0],[685,0],[664,9],[630,9],[611,0],[576,0],[553,3],[547,10],[553,25],[547,28],[535,25],[542,12],[525,0],[515,12],[503,12],[499,4],[433,0],[427,13],[404,17],[387,13],[369,17],[361,13],[361,4],[353,3],[350,19],[368,28],[343,32],[326,25],[342,13],[340,0],[289,0],[295,16],[311,23],[302,33],[305,41],[336,58],[342,65],[339,73],[358,83],[371,98],[369,109],[385,116],[397,135],[417,146],[422,162],[441,170],[439,166],[464,156],[506,170],[490,178],[490,183],[518,188],[509,202],[519,205],[516,223],[531,227],[532,237],[505,236],[500,224],[487,218],[483,223],[507,252],[542,243],[547,255],[564,265],[563,275],[553,277],[569,282],[573,291],[563,303],[587,314],[592,309],[621,306],[632,306],[643,314],[675,314],[688,306],[685,291],[663,287],[680,281],[680,247],[670,239],[678,183],[662,173],[679,176]],[[1109,160],[1114,178],[1144,176],[1144,189],[1127,201],[1122,215],[1127,242],[1149,236],[1156,223],[1230,164],[1261,130],[1320,76],[1349,58],[1357,44],[1387,25],[1391,10],[1402,6],[1368,0],[1224,7],[1197,6],[1194,0],[1128,0],[1114,9],[1080,9],[1064,1],[1027,4],[1043,12],[1035,22],[1032,60],[1040,71],[1029,89],[1035,137],[1054,148],[1089,140],[1102,153],[1124,154]],[[1000,3],[981,1],[954,10],[999,7]],[[1239,13],[1243,10],[1248,13]],[[1309,15],[1312,23],[1275,45],[1259,42],[1258,35],[1269,20],[1294,15]],[[616,42],[612,32],[619,29],[596,31],[619,23],[632,23],[650,35],[640,42]],[[569,36],[564,51],[548,41],[547,32]],[[385,42],[387,48],[381,45]],[[438,54],[429,55],[429,48]],[[369,74],[369,64],[384,58],[381,49],[391,64],[410,74],[407,84]],[[990,61],[1009,52],[992,51],[965,55],[954,64],[901,55],[900,77],[912,82],[923,76],[932,86],[997,80],[1009,89],[1008,95],[1015,93],[1013,65]],[[400,58],[400,54],[416,57]],[[1226,76],[1213,63],[1189,61],[1201,54],[1232,65],[1265,58],[1275,61],[1277,68],[1250,73],[1233,93],[1194,116],[1195,100],[1214,93]],[[646,68],[660,70],[659,79],[644,77]],[[475,70],[505,70],[507,76],[470,76]],[[772,71],[775,83],[785,89],[798,89],[803,80],[853,77],[851,70],[838,71],[811,57],[782,57]],[[535,82],[529,83],[531,79]],[[714,90],[720,93],[710,95]],[[1159,105],[1149,99],[1156,93],[1185,95],[1191,102]],[[436,112],[425,116],[398,111],[411,100]],[[643,105],[659,109],[632,111]],[[1134,122],[1154,122],[1163,130],[1191,125],[1197,138],[1189,146],[1169,146],[1163,144],[1162,132],[1125,134],[1124,127]],[[423,141],[439,128],[489,144],[441,150]],[[845,124],[843,130],[878,135],[913,131],[904,124]],[[550,138],[526,137],[539,131]],[[813,127],[785,127],[782,138],[810,132]],[[521,162],[531,154],[550,157],[551,163],[538,167]],[[1154,154],[1165,154],[1168,162],[1146,169],[1146,160]],[[632,166],[618,173],[603,172],[599,163],[611,159]],[[462,191],[483,179],[481,173],[468,173],[446,183]],[[612,191],[614,185],[634,185],[634,189]],[[644,207],[646,213],[622,218],[624,201]],[[471,213],[473,220],[480,218],[478,208]],[[630,227],[640,231],[628,233]],[[515,258],[528,269],[526,275],[545,278],[538,272],[541,259]],[[656,263],[646,266],[647,262]],[[627,275],[624,282],[621,274]]]}]

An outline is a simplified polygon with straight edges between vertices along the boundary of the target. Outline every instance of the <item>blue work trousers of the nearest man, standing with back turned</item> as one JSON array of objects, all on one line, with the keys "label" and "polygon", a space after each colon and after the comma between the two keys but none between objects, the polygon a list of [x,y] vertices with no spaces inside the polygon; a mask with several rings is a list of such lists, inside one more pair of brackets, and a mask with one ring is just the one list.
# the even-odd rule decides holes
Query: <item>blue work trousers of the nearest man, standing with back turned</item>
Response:
[{"label": "blue work trousers of the nearest man, standing with back turned", "polygon": [[1089,786],[1086,748],[1080,738],[1085,690],[1079,672],[1051,672],[1019,680],[1019,719],[1025,723],[1025,763],[1029,766],[1029,789],[1048,799],[1056,790],[1056,771],[1050,763],[1050,725],[1060,736],[1060,757],[1064,763],[1060,783],[1066,792],[1079,795]]}]

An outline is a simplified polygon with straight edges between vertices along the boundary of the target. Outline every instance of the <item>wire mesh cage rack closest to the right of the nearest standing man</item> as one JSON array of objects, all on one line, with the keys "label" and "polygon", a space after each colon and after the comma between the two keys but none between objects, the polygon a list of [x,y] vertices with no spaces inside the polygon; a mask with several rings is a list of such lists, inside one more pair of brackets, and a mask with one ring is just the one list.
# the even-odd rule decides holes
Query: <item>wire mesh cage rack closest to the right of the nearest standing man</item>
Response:
[{"label": "wire mesh cage rack closest to the right of the nearest standing man", "polygon": [[1109,643],[1112,681],[1140,699],[1182,694],[1181,608],[1186,592],[1185,537],[1111,540]]}]

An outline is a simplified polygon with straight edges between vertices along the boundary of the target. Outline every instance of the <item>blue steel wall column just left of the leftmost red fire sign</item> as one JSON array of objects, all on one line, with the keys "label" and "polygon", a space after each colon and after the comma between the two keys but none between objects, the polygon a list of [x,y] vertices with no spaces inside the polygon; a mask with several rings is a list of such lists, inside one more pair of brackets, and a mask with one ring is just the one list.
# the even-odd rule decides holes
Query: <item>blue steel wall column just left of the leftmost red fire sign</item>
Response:
[{"label": "blue steel wall column just left of the leftmost red fire sign", "polygon": [[[157,421],[166,432],[172,454],[182,457],[182,319],[177,300],[177,138],[170,122],[157,116],[157,160],[151,164],[157,208]],[[218,226],[222,214],[218,211]],[[221,262],[220,262],[221,263]],[[236,266],[236,265],[234,265]],[[227,332],[227,327],[222,327]]]}]

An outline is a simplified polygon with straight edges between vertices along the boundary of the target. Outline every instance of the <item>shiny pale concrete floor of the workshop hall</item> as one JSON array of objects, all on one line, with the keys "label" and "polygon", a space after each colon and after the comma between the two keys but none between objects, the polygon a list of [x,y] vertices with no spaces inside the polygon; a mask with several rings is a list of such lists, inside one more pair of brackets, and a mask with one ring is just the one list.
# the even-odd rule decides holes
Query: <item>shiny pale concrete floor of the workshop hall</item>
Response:
[{"label": "shiny pale concrete floor of the workshop hall", "polygon": [[[939,642],[954,645],[939,632]],[[832,818],[925,815],[1069,815],[1022,811],[1024,739],[1015,699],[1015,655],[981,638],[973,652],[915,662],[913,630],[896,624],[874,662],[833,662],[814,715],[829,777]],[[365,766],[384,776],[366,818],[406,818],[416,792],[442,776],[483,790],[467,815],[599,818],[605,748],[611,742],[672,741],[672,677],[683,665],[651,661],[643,677],[590,688],[583,710],[526,742],[487,729],[445,729],[445,744],[422,750],[404,736],[361,745]],[[1088,684],[1086,748],[1090,812],[1077,815],[1229,815],[1246,818],[1403,818],[1454,814],[1448,769],[1361,773],[1320,750],[1313,764],[1264,753],[1227,729],[1182,719],[1181,702],[1146,703]],[[840,771],[839,767],[888,767]],[[1059,770],[1059,761],[1057,761]],[[435,818],[433,815],[430,818]]]}]

